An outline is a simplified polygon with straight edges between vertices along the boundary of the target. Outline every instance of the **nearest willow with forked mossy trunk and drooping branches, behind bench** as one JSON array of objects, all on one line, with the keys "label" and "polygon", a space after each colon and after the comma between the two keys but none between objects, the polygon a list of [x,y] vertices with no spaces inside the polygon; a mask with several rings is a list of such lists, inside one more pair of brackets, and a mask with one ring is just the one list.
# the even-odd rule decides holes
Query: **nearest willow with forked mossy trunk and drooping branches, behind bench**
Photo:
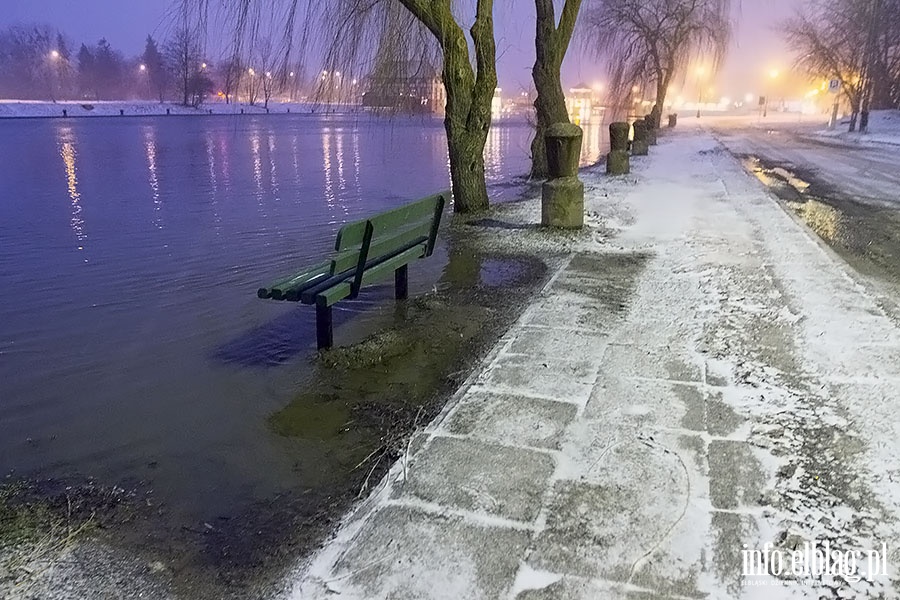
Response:
[{"label": "nearest willow with forked mossy trunk and drooping branches, behind bench", "polygon": [[[301,54],[324,54],[322,76],[327,85],[320,86],[323,89],[343,87],[361,79],[352,77],[351,73],[371,73],[379,48],[403,45],[410,37],[418,42],[427,37],[440,57],[446,91],[444,128],[454,208],[457,212],[475,212],[488,207],[484,146],[497,87],[494,2],[468,0],[474,6],[460,7],[468,10],[468,14],[474,13],[467,37],[463,21],[453,6],[462,1],[224,0],[212,3],[180,0],[193,3],[201,14],[215,10],[220,18],[224,17],[234,33],[236,55],[242,54],[247,39],[265,21],[274,20],[283,27],[285,64],[298,49]],[[316,34],[322,45],[308,52],[307,40]],[[302,40],[299,43],[298,36]]]}]

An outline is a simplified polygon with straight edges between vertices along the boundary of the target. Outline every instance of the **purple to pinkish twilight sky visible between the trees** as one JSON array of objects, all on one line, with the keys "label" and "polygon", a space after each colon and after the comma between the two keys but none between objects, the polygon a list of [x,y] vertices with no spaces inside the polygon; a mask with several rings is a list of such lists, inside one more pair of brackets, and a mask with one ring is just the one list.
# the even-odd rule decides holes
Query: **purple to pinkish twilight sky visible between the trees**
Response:
[{"label": "purple to pinkish twilight sky visible between the trees", "polygon": [[[77,42],[106,37],[126,54],[138,54],[148,33],[165,37],[169,0],[4,0],[0,26],[17,22],[48,22]],[[771,26],[788,16],[800,0],[743,0],[735,40],[718,77],[711,82],[716,94],[743,96],[758,92],[764,72],[786,69],[790,59]],[[507,93],[529,87],[534,60],[534,4],[528,0],[499,2],[497,50],[500,85]],[[564,85],[593,85],[604,79],[604,69],[573,48],[563,70]],[[688,86],[692,82],[688,81]]]}]

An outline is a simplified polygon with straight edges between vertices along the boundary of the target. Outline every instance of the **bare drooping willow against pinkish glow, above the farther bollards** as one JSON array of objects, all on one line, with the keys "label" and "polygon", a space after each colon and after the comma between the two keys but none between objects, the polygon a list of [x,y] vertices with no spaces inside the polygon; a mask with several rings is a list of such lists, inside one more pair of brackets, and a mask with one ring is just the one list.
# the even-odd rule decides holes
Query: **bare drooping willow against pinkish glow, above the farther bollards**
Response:
[{"label": "bare drooping willow against pinkish glow, above the farther bollards", "polygon": [[730,0],[587,0],[584,13],[585,44],[606,58],[620,106],[647,82],[661,111],[676,74],[700,57],[717,69],[731,39]]}]

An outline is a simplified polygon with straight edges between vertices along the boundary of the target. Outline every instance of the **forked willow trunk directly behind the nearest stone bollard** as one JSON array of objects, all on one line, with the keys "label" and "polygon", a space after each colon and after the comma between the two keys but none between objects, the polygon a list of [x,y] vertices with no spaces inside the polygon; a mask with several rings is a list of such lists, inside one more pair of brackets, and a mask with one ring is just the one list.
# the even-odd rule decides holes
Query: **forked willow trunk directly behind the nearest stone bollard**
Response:
[{"label": "forked willow trunk directly behind the nearest stone bollard", "polygon": [[582,0],[566,0],[556,21],[553,0],[535,0],[537,9],[536,33],[534,38],[535,61],[531,70],[537,98],[534,100],[536,128],[531,142],[531,176],[543,178],[548,175],[544,133],[554,123],[568,123],[566,97],[560,81],[560,71]]}]

